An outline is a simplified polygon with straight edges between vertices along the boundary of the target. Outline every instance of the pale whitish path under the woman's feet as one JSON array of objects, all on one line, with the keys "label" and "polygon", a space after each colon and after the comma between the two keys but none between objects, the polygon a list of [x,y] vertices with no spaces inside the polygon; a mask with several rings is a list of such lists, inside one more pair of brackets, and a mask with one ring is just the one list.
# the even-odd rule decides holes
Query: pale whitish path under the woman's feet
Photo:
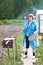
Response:
[{"label": "pale whitish path under the woman's feet", "polygon": [[[25,51],[24,51],[25,52]],[[32,48],[29,47],[27,57],[22,53],[21,62],[22,65],[36,65],[36,58],[33,58]]]}]

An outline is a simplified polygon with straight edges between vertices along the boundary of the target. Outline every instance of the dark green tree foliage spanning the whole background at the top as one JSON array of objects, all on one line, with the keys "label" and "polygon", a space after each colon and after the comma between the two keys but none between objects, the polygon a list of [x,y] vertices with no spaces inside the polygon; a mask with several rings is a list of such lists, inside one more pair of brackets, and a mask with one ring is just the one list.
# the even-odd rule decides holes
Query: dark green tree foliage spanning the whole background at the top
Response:
[{"label": "dark green tree foliage spanning the whole background at the top", "polygon": [[0,0],[0,19],[17,18],[23,11],[31,7],[33,9],[37,4],[43,5],[42,0]]}]

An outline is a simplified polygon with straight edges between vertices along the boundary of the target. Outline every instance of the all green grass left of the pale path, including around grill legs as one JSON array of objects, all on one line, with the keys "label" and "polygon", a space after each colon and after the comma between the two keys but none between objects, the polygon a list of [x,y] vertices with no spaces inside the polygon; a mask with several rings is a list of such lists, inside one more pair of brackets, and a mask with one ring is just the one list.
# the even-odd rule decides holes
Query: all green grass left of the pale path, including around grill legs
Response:
[{"label": "all green grass left of the pale path, including around grill legs", "polygon": [[[17,37],[16,43],[17,43],[17,57],[16,57],[16,53],[15,53],[15,63],[16,65],[21,65],[21,43],[22,43],[22,39],[23,39],[23,33],[20,33],[20,35]],[[14,56],[12,53],[12,49],[10,50],[10,59],[8,54],[6,53],[5,55],[5,65],[14,65]],[[16,52],[16,47],[14,46],[14,50]],[[4,65],[4,62],[0,62],[0,65]]]}]

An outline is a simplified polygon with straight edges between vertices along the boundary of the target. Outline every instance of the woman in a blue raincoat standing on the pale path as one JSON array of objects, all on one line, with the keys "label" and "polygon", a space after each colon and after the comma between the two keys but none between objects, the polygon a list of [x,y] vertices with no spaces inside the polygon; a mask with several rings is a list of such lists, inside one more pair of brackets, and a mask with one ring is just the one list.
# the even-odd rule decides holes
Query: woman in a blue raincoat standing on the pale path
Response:
[{"label": "woman in a blue raincoat standing on the pale path", "polygon": [[24,24],[23,28],[24,41],[23,44],[26,45],[25,55],[27,56],[27,50],[29,46],[33,49],[33,56],[35,57],[35,50],[39,47],[38,42],[38,24],[34,20],[33,14],[28,14],[28,20]]}]

